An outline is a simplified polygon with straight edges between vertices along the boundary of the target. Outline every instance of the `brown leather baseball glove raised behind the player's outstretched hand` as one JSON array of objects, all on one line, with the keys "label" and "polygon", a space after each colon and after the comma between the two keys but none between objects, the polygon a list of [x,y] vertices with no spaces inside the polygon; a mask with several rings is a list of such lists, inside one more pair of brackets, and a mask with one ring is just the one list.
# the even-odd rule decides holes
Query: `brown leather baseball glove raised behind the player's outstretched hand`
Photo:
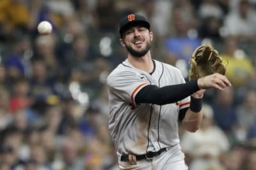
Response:
[{"label": "brown leather baseball glove raised behind the player's outstretched hand", "polygon": [[209,45],[198,46],[193,52],[189,64],[189,80],[196,80],[213,73],[225,75],[226,72],[226,67],[222,64],[218,51]]}]

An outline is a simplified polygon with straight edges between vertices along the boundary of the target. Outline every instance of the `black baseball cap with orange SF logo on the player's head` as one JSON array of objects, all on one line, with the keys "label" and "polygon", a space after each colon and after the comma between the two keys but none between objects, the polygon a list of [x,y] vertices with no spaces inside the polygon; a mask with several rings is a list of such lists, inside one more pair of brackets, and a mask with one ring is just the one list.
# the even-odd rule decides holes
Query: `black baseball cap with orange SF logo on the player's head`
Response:
[{"label": "black baseball cap with orange SF logo on the player's head", "polygon": [[122,18],[122,20],[120,20],[119,22],[119,33],[121,38],[123,37],[122,34],[125,29],[128,29],[129,27],[132,27],[134,25],[142,25],[148,30],[150,29],[150,24],[144,16],[138,14],[129,14]]}]

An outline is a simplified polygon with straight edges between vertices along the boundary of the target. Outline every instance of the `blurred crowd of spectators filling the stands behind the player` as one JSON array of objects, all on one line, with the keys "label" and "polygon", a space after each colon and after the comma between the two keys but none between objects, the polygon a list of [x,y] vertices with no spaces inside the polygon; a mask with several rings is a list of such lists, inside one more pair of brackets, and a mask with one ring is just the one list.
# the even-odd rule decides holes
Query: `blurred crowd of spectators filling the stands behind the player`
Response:
[{"label": "blurred crowd of spectators filling the stands behind the player", "polygon": [[126,57],[118,21],[134,12],[151,23],[153,58],[186,80],[198,45],[227,67],[232,87],[205,92],[200,130],[180,125],[190,169],[256,169],[255,0],[1,0],[0,170],[118,169],[105,81]]}]

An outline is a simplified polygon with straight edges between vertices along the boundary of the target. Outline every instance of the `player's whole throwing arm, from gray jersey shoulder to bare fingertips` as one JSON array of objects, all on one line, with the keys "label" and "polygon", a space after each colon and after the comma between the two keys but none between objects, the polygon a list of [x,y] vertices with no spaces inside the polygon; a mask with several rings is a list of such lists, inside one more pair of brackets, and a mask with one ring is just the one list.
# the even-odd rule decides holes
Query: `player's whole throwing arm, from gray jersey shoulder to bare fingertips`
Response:
[{"label": "player's whole throwing arm, from gray jersey shoulder to bare fingertips", "polygon": [[212,74],[198,80],[157,87],[151,85],[138,74],[120,67],[108,77],[108,87],[116,96],[134,105],[140,103],[168,104],[180,101],[200,89],[216,88],[222,90],[230,85],[227,78],[221,74]]}]

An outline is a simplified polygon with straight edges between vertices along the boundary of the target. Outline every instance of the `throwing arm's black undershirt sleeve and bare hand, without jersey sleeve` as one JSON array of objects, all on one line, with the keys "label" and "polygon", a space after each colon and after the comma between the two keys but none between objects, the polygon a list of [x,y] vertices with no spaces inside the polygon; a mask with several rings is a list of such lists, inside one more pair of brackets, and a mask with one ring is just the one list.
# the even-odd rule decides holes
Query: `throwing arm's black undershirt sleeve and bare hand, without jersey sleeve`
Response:
[{"label": "throwing arm's black undershirt sleeve and bare hand, without jersey sleeve", "polygon": [[135,98],[136,104],[153,103],[153,104],[168,104],[175,103],[185,97],[194,94],[200,89],[215,88],[223,90],[225,87],[231,86],[227,78],[221,74],[211,74],[198,80],[188,81],[177,85],[168,85],[157,87],[156,85],[147,85],[138,92]]}]

